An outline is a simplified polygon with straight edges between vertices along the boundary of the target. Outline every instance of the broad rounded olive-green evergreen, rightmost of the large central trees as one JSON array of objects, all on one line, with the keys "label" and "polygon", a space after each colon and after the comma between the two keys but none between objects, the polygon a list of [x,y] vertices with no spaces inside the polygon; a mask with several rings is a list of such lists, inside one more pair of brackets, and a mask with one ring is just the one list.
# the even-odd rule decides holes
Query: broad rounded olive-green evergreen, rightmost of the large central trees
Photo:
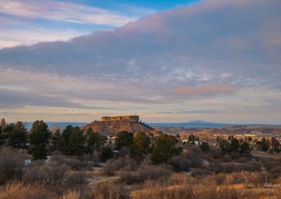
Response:
[{"label": "broad rounded olive-green evergreen, rightmost of the large central trees", "polygon": [[169,158],[181,153],[182,148],[177,147],[177,140],[172,135],[159,135],[152,150],[151,160],[154,164],[167,163]]}]

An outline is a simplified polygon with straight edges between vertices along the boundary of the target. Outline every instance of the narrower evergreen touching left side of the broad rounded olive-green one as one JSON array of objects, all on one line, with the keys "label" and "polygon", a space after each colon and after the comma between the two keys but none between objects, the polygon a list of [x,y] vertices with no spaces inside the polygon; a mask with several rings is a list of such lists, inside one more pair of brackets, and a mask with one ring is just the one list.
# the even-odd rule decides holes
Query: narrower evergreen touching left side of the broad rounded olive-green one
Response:
[{"label": "narrower evergreen touching left side of the broad rounded olive-green one", "polygon": [[129,148],[129,156],[140,163],[143,160],[143,155],[148,153],[149,146],[150,138],[145,133],[138,132],[133,137],[133,144]]}]

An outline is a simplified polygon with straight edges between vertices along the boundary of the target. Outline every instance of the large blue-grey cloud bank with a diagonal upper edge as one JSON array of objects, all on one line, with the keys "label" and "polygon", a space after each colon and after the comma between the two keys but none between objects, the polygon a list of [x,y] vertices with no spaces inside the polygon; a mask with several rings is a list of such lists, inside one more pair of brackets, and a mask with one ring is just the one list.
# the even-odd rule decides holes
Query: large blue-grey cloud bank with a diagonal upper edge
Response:
[{"label": "large blue-grey cloud bank with a diagonal upper edge", "polygon": [[228,81],[277,81],[281,46],[272,48],[263,41],[268,26],[274,27],[271,34],[281,31],[280,2],[227,2],[176,8],[67,42],[1,50],[1,65],[99,77],[161,76],[161,81],[214,83],[226,73],[231,74]]}]

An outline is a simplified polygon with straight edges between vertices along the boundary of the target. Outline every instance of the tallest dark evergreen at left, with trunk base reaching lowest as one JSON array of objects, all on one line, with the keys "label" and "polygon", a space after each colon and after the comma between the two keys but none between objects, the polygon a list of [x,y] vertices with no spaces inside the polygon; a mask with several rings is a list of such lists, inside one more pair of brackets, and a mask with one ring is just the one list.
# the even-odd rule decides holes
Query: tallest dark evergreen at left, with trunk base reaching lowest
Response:
[{"label": "tallest dark evergreen at left, with trunk base reaching lowest", "polygon": [[48,125],[44,121],[35,121],[30,130],[30,148],[35,160],[46,159],[46,146],[51,138],[51,132],[48,130]]}]

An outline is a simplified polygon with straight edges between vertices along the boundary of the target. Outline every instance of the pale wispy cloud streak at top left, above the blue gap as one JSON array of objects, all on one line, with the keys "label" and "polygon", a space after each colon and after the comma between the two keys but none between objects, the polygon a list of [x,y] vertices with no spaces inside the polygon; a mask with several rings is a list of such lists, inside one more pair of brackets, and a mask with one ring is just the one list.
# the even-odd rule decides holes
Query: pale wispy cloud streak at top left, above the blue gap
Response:
[{"label": "pale wispy cloud streak at top left, above the blue gap", "polygon": [[[107,11],[102,8],[62,1],[1,1],[0,13],[16,15],[22,18],[39,18],[111,26],[120,26],[132,20],[136,20],[136,18]],[[151,13],[151,11],[149,13]]]}]

